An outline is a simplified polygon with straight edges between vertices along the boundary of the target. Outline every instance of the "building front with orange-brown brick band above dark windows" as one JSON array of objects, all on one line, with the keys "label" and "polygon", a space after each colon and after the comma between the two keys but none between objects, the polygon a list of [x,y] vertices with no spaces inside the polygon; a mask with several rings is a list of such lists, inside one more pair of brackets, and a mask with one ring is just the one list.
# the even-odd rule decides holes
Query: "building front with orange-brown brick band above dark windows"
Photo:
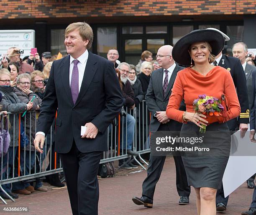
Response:
[{"label": "building front with orange-brown brick band above dark windows", "polygon": [[[65,54],[64,29],[86,21],[94,31],[92,52],[106,57],[116,48],[120,61],[137,64],[141,52],[154,55],[164,44],[192,30],[218,28],[256,48],[256,0],[1,0],[0,29],[34,29],[39,53]],[[33,48],[33,47],[31,47]]]}]

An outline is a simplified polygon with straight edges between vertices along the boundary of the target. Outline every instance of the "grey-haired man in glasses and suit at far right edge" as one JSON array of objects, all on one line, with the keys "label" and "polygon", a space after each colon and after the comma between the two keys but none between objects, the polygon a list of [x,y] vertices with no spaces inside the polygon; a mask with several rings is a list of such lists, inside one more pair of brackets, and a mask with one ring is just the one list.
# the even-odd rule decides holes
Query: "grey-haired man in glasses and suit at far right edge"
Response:
[{"label": "grey-haired man in glasses and suit at far right edge", "polygon": [[[256,72],[256,67],[253,67],[252,65],[247,64],[246,62],[248,47],[245,43],[239,42],[234,44],[232,47],[232,54],[233,54],[233,57],[238,58],[242,64],[243,71],[246,76],[246,86],[248,91],[249,107],[251,107],[251,103],[254,101],[252,99],[252,84],[253,84],[252,73]],[[255,179],[255,174],[247,180],[248,188],[253,189],[255,187],[254,179]]]}]

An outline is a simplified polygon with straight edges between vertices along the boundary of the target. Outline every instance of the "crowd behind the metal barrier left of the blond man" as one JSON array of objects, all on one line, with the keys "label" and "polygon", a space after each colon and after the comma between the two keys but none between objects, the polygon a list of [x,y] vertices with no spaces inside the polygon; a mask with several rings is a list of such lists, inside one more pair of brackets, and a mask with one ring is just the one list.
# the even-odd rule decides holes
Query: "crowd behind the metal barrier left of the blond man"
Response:
[{"label": "crowd behind the metal barrier left of the blond man", "polygon": [[[40,56],[26,56],[20,59],[17,47],[8,49],[6,57],[1,61],[0,66],[0,92],[1,111],[12,114],[3,116],[8,120],[10,133],[10,147],[8,154],[3,156],[3,171],[1,179],[18,177],[18,139],[19,128],[20,136],[24,131],[24,146],[20,147],[20,176],[29,175],[41,171],[46,154],[50,148],[54,149],[54,122],[53,128],[49,131],[47,138],[47,147],[44,154],[36,153],[33,146],[33,140],[36,134],[36,119],[40,111],[44,91],[49,78],[51,64],[56,56],[51,56],[51,52],[44,52]],[[21,117],[19,124],[19,113],[27,112],[25,117]],[[49,163],[47,170],[54,169],[55,159],[54,150],[49,153]],[[58,156],[57,156],[58,158]],[[14,161],[14,163],[13,163]],[[56,159],[57,164],[59,159]],[[57,165],[58,166],[58,165]],[[14,173],[14,175],[13,175]],[[53,186],[64,187],[59,179],[59,174],[46,176],[44,182]],[[17,194],[29,195],[35,190],[46,192],[48,189],[43,185],[42,178],[36,178],[34,181],[19,181],[12,184],[2,185],[5,192],[12,198],[18,198]],[[1,197],[9,199],[5,192],[0,191]]]}]

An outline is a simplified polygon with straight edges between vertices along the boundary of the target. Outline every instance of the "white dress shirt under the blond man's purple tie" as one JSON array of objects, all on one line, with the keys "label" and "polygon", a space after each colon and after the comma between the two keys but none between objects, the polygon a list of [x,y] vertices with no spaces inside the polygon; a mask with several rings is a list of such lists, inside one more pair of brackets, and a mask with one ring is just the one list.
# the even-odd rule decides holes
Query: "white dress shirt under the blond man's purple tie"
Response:
[{"label": "white dress shirt under the blond man's purple tie", "polygon": [[[85,67],[86,67],[86,63],[87,63],[87,59],[88,59],[88,51],[86,49],[86,51],[84,51],[84,54],[80,55],[79,58],[77,58],[77,60],[79,60],[79,63],[77,64],[77,67],[78,67],[78,74],[79,74],[79,92],[80,92],[80,88],[81,88],[81,85],[82,85],[82,80],[83,80],[83,77],[84,77],[84,70],[85,70]],[[70,61],[69,61],[69,86],[70,86],[70,83],[71,83],[71,77],[72,77],[72,71],[73,71],[73,67],[74,67],[74,61],[75,59],[70,55]],[[42,131],[38,131],[36,132],[36,135],[38,134],[42,134],[45,136],[45,133],[42,132]]]}]

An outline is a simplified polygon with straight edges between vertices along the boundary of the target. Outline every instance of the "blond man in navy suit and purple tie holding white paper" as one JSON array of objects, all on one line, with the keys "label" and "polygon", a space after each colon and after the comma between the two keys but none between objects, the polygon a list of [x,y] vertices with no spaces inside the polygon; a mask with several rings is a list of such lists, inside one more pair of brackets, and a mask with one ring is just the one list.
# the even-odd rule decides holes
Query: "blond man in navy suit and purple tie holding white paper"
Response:
[{"label": "blond man in navy suit and purple tie holding white paper", "polygon": [[[106,129],[123,105],[113,63],[92,54],[92,28],[72,23],[65,30],[69,56],[54,61],[38,118],[37,151],[56,110],[55,151],[60,154],[74,215],[97,215],[97,171],[102,151],[108,151]],[[81,137],[81,126],[86,131]],[[39,146],[40,144],[40,146]]]}]

